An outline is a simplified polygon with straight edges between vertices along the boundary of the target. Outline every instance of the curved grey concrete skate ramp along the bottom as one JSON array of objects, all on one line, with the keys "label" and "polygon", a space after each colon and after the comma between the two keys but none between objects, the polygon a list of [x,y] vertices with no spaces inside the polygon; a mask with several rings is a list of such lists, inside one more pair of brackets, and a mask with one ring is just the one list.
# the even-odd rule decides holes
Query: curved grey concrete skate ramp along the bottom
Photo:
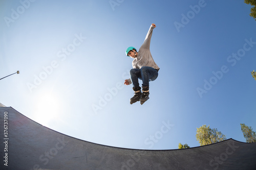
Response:
[{"label": "curved grey concrete skate ramp along the bottom", "polygon": [[[3,134],[4,114],[8,115],[7,137]],[[245,170],[256,167],[256,143],[228,139],[182,150],[123,149],[58,133],[39,125],[11,107],[0,107],[0,119],[1,158],[6,161],[4,156],[8,153],[8,166],[1,160],[0,169]]]}]

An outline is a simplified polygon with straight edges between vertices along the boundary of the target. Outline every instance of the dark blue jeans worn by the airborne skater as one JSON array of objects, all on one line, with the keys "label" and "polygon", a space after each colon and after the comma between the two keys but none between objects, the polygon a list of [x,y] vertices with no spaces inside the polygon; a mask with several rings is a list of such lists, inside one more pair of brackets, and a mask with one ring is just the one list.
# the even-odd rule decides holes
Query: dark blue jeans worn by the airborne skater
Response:
[{"label": "dark blue jeans worn by the airborne skater", "polygon": [[141,69],[133,68],[130,70],[130,77],[133,87],[140,87],[139,80],[142,80],[142,86],[149,86],[150,81],[154,81],[158,77],[158,71],[152,67],[141,67]]}]

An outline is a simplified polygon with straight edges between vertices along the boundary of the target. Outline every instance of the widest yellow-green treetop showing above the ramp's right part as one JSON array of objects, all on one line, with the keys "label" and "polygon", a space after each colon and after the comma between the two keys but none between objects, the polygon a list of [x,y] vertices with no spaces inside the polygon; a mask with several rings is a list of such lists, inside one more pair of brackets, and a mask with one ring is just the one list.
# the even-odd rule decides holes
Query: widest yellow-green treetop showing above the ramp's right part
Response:
[{"label": "widest yellow-green treetop showing above the ramp's right part", "polygon": [[200,146],[226,140],[226,135],[223,135],[217,129],[211,129],[210,125],[208,127],[203,125],[200,128],[197,128],[196,137]]}]

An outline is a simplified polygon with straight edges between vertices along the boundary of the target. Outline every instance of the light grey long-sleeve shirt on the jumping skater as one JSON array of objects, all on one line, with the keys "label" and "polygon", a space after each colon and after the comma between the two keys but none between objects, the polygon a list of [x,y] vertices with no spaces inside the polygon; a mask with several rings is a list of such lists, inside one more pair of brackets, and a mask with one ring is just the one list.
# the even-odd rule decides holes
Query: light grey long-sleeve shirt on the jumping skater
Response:
[{"label": "light grey long-sleeve shirt on the jumping skater", "polygon": [[[138,55],[137,57],[133,60],[133,68],[141,68],[143,66],[148,66],[148,67],[153,67],[157,69],[157,71],[160,69],[158,65],[155,63],[151,52],[150,52],[150,42],[151,42],[151,37],[153,33],[153,29],[155,27],[151,25],[150,30],[148,30],[146,38],[139,48]],[[131,79],[128,80],[129,84],[132,84]]]}]

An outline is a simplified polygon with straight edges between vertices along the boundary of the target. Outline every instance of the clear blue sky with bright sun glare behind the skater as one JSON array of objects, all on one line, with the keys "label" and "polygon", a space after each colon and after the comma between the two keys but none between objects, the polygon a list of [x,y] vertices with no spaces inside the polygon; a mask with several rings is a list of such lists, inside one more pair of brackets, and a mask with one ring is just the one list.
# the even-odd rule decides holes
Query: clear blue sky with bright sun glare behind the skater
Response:
[{"label": "clear blue sky with bright sun glare behind the skater", "polygon": [[[112,5],[111,5],[111,3]],[[2,1],[0,102],[58,132],[133,149],[199,146],[210,125],[256,130],[256,21],[243,1]],[[155,23],[150,100],[130,105],[132,59]]]}]

